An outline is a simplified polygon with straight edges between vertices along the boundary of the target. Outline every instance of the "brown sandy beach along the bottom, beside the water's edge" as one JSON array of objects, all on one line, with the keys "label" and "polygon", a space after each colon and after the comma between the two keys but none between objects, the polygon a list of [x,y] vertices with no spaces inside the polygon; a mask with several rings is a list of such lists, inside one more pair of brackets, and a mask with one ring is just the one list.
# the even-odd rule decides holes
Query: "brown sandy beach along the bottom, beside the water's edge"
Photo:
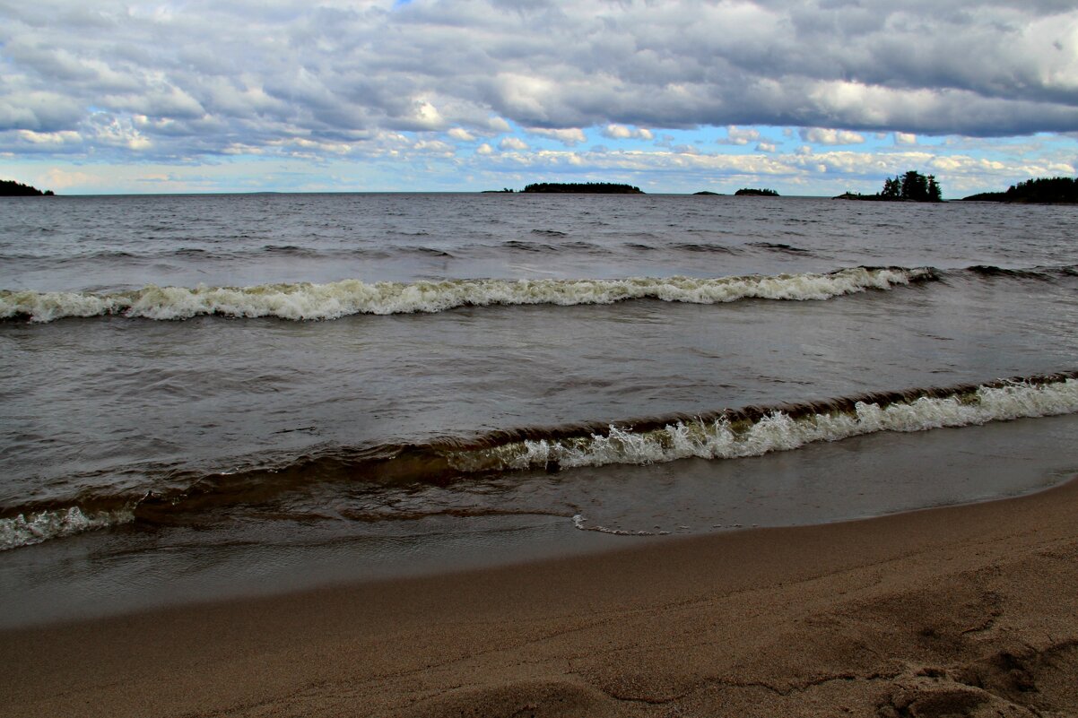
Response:
[{"label": "brown sandy beach along the bottom, beside the water's edge", "polygon": [[1078,482],[632,546],[6,632],[0,713],[1078,715]]}]

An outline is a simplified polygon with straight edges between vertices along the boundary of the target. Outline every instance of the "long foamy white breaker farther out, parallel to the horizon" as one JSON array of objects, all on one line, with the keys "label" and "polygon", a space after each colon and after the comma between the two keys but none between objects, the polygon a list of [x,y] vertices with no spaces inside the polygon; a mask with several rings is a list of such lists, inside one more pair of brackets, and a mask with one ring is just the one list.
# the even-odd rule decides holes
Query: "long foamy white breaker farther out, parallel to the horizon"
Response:
[{"label": "long foamy white breaker farther out, parallel to the horizon", "polygon": [[0,291],[0,318],[46,322],[65,317],[122,315],[189,319],[199,315],[336,319],[356,314],[436,313],[461,306],[612,304],[652,299],[716,304],[743,299],[827,300],[937,278],[927,268],[853,267],[828,274],[628,279],[448,279],[415,282],[156,287],[113,293]]}]

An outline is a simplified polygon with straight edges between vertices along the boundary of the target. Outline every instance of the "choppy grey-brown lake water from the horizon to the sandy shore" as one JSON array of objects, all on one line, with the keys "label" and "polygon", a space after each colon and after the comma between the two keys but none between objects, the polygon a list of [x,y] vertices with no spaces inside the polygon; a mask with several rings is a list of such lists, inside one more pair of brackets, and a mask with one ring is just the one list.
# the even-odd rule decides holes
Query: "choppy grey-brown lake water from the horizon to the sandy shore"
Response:
[{"label": "choppy grey-brown lake water from the horizon to the sandy shore", "polygon": [[1078,469],[1074,207],[229,195],[0,220],[0,571],[24,595],[58,566],[70,589],[267,547],[525,555],[528,530],[833,521]]}]

